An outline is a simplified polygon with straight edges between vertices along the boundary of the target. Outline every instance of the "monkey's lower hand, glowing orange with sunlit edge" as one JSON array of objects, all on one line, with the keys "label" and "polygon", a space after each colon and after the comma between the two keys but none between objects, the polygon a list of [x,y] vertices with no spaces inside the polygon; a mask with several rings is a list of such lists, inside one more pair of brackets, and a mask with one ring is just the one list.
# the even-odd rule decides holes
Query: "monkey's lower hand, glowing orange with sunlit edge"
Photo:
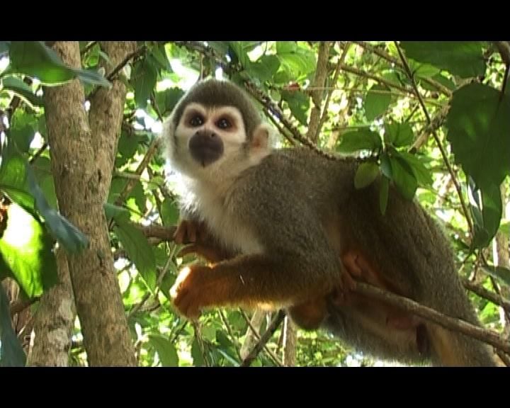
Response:
[{"label": "monkey's lower hand, glowing orange with sunlit edge", "polygon": [[208,290],[203,290],[203,275],[210,271],[208,266],[186,266],[170,289],[175,307],[188,319],[198,318],[200,310],[208,306],[205,301]]}]

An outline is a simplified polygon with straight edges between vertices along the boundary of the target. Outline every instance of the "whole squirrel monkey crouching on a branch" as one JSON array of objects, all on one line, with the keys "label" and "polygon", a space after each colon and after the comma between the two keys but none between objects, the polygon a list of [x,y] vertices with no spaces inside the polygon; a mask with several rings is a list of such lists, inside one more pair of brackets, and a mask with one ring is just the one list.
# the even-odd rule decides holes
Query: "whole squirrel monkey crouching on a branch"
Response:
[{"label": "whole squirrel monkey crouching on a branch", "polygon": [[271,149],[270,128],[238,86],[193,86],[164,123],[183,176],[176,242],[193,265],[171,295],[188,318],[220,306],[285,307],[304,329],[323,327],[379,358],[434,365],[495,365],[480,341],[356,294],[356,280],[478,324],[448,241],[416,203],[379,181],[354,187],[358,164],[308,148]]}]

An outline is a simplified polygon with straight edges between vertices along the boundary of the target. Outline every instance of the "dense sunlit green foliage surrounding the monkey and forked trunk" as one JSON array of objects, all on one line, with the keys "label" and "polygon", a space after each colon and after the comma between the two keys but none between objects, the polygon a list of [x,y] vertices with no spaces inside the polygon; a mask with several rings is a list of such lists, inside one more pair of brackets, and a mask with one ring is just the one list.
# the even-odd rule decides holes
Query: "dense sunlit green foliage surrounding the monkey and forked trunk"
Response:
[{"label": "dense sunlit green foliage surrounding the monkey and forked trunk", "polygon": [[[232,79],[249,91],[279,130],[278,146],[305,142],[372,157],[356,176],[358,186],[382,172],[387,183],[441,220],[482,324],[508,336],[509,301],[499,297],[508,299],[510,284],[508,42],[137,42],[115,61],[113,51],[108,54],[115,44],[107,50],[80,42],[79,68],[64,63],[52,46],[0,42],[0,365],[24,365],[27,356],[31,363],[38,341],[62,346],[68,334],[63,360],[47,356],[32,363],[90,363],[71,285],[51,293],[57,264],[69,274],[55,248],[73,257],[90,244],[72,215],[59,211],[55,186],[65,171],[56,172],[62,166],[52,163],[57,158],[47,130],[50,120],[67,120],[59,118],[63,108],[60,113],[47,105],[63,103],[49,98],[70,83],[84,94],[79,103],[89,115],[112,84],[126,93],[122,119],[107,123],[118,149],[115,142],[103,204],[138,365],[239,365],[257,341],[250,320],[262,333],[276,315],[213,310],[191,324],[169,301],[179,268],[196,259],[177,257],[171,240],[179,185],[165,166],[158,134],[186,89],[209,76]],[[79,159],[83,151],[69,154]],[[382,210],[386,198],[380,197]],[[97,251],[100,260],[106,255]],[[94,293],[78,288],[77,280],[73,285],[81,315],[93,307]],[[65,293],[71,300],[64,303]],[[57,330],[63,320],[38,325],[59,307],[70,316],[70,331]],[[91,353],[94,344],[89,347]],[[283,364],[380,362],[324,331],[296,331],[285,320],[252,363]]]}]

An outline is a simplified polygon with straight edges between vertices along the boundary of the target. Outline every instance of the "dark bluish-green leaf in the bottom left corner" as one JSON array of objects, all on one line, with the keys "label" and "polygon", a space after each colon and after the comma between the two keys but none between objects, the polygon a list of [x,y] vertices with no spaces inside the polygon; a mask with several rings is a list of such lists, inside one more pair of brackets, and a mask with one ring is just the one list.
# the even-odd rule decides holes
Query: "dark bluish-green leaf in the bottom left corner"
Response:
[{"label": "dark bluish-green leaf in the bottom left corner", "polygon": [[7,294],[0,285],[0,367],[24,367],[26,356],[13,330]]}]

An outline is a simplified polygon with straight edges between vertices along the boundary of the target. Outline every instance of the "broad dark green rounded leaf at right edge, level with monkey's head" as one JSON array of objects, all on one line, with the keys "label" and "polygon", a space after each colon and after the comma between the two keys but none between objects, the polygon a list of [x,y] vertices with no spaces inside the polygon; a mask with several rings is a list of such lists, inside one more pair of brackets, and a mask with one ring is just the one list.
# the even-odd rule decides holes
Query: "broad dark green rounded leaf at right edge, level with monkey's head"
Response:
[{"label": "broad dark green rounded leaf at right edge, level with monkey's head", "polygon": [[510,174],[510,96],[469,84],[453,93],[446,117],[455,161],[477,186],[501,184]]}]

